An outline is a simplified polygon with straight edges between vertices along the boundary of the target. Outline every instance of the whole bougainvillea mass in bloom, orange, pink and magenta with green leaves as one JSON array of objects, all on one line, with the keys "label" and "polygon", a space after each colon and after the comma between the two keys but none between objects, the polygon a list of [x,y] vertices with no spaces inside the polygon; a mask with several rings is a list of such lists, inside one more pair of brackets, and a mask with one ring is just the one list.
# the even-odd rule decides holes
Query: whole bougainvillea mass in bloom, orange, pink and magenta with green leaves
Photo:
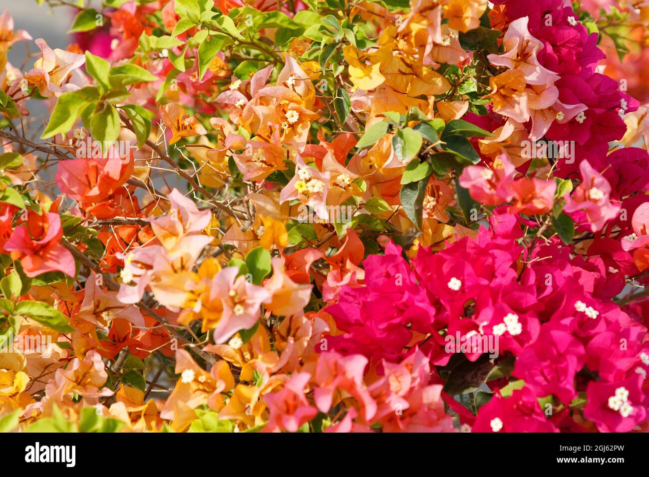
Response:
[{"label": "whole bougainvillea mass in bloom, orange, pink and magenta with green leaves", "polygon": [[647,430],[648,3],[37,3],[0,430]]}]

